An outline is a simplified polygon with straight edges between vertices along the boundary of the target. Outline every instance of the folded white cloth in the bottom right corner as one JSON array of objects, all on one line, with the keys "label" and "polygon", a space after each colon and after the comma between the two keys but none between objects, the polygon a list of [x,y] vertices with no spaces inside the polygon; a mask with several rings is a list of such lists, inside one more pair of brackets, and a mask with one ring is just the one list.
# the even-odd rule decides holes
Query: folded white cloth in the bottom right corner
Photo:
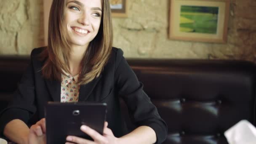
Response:
[{"label": "folded white cloth in the bottom right corner", "polygon": [[256,144],[256,128],[247,120],[241,120],[224,135],[229,144]]}]

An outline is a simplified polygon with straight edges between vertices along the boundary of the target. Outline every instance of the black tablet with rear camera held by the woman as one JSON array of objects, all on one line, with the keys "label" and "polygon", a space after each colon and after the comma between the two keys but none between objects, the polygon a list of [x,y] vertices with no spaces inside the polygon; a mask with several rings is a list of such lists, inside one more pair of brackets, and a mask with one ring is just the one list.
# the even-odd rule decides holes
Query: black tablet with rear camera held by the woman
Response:
[{"label": "black tablet with rear camera held by the woman", "polygon": [[106,103],[48,102],[45,106],[47,144],[64,144],[69,135],[91,139],[80,130],[81,125],[102,134],[106,113]]}]

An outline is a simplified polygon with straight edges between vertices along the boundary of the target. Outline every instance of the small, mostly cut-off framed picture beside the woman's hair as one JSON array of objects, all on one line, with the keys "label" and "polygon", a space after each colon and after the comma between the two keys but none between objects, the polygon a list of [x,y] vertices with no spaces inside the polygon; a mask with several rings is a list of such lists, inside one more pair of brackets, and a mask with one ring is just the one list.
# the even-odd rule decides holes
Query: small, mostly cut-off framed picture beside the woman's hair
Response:
[{"label": "small, mostly cut-off framed picture beside the woman's hair", "polygon": [[113,17],[127,16],[127,0],[109,0]]}]

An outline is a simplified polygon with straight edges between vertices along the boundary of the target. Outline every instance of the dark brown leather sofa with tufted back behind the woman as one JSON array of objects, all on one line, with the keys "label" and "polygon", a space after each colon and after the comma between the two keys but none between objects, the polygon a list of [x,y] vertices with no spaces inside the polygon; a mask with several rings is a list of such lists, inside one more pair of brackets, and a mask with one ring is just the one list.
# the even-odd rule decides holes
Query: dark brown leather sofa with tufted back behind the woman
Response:
[{"label": "dark brown leather sofa with tufted back behind the woman", "polygon": [[[229,60],[128,59],[168,125],[164,144],[227,144],[224,131],[242,119],[255,125],[255,65]],[[29,57],[0,57],[0,110]],[[121,107],[126,107],[121,101]],[[124,115],[132,130],[128,113]]]}]

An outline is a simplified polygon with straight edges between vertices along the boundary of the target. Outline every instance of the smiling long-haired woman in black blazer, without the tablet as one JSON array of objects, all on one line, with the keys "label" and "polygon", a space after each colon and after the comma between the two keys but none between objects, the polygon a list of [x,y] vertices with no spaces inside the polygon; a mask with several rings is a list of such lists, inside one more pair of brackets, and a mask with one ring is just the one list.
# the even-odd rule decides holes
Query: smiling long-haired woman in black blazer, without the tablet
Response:
[{"label": "smiling long-haired woman in black blazer, without the tablet", "polygon": [[[94,141],[67,136],[67,144],[152,144],[164,141],[165,122],[142,90],[120,49],[112,48],[108,0],[53,0],[48,46],[31,53],[31,64],[0,115],[0,131],[19,144],[45,143],[47,101],[107,103],[107,122],[100,135],[86,125]],[[137,128],[125,131],[119,97]],[[37,123],[30,128],[32,116]],[[69,142],[68,142],[69,141]]]}]

